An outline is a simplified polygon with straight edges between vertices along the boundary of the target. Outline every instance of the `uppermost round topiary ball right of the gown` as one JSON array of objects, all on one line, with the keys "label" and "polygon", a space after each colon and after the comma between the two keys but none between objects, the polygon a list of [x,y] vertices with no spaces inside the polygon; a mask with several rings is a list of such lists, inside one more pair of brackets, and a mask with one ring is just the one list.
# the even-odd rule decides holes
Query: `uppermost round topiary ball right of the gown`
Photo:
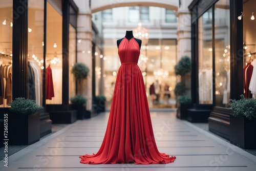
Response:
[{"label": "uppermost round topiary ball right of the gown", "polygon": [[186,73],[191,72],[191,60],[187,56],[183,56],[180,61],[175,65],[175,74],[176,75],[185,75]]}]

